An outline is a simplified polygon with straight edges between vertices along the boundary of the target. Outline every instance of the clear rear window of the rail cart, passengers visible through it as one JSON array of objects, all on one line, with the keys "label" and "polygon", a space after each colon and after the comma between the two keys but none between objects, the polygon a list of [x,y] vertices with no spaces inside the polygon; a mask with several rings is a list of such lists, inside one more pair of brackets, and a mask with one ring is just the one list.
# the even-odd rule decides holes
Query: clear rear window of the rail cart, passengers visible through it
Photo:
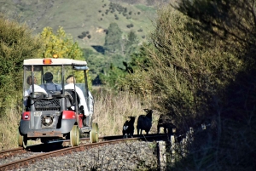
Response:
[{"label": "clear rear window of the rail cart, passengers visible through it", "polygon": [[[61,94],[61,90],[67,85],[67,77],[73,75],[77,87],[85,94],[84,71],[74,70],[73,66],[24,66],[23,97],[24,100],[30,94]],[[33,76],[33,80],[32,80]],[[73,85],[74,89],[74,85]]]}]

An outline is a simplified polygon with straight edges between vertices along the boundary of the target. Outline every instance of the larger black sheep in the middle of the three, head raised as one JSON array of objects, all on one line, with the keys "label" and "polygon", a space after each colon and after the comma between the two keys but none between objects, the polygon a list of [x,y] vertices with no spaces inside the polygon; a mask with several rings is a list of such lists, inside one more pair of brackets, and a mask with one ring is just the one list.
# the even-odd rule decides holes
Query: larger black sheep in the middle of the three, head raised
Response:
[{"label": "larger black sheep in the middle of the three, head raised", "polygon": [[143,130],[148,134],[152,127],[153,110],[144,109],[147,115],[140,115],[137,119],[137,134],[143,134]]}]

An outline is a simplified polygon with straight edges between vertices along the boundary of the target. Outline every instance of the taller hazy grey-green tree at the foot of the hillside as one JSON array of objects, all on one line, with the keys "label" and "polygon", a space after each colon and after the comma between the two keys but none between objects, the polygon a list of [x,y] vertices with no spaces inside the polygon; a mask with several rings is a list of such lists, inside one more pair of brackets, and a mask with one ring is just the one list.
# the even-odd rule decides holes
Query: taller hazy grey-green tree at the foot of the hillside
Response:
[{"label": "taller hazy grey-green tree at the foot of the hillside", "polygon": [[122,37],[122,31],[116,23],[111,23],[108,26],[108,32],[105,37],[104,48],[110,53],[114,53],[121,50],[120,40]]}]

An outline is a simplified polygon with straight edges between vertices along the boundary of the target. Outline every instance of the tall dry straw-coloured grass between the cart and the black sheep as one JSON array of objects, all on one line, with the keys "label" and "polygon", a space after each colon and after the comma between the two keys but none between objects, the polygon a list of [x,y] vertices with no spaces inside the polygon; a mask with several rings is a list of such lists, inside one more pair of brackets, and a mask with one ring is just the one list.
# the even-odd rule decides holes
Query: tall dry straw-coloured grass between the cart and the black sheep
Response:
[{"label": "tall dry straw-coloured grass between the cart and the black sheep", "polygon": [[[98,88],[98,92],[104,91]],[[119,93],[114,95],[111,92],[102,93],[95,102],[95,118],[94,122],[99,125],[99,135],[119,135],[122,134],[122,128],[129,116],[139,116],[145,114],[144,108],[150,108],[149,103],[142,105],[141,100],[137,95],[129,93]],[[135,121],[135,131],[137,134],[137,117]],[[150,133],[156,133],[156,124],[158,115],[154,115],[153,126]],[[143,134],[145,134],[143,132]]]}]

